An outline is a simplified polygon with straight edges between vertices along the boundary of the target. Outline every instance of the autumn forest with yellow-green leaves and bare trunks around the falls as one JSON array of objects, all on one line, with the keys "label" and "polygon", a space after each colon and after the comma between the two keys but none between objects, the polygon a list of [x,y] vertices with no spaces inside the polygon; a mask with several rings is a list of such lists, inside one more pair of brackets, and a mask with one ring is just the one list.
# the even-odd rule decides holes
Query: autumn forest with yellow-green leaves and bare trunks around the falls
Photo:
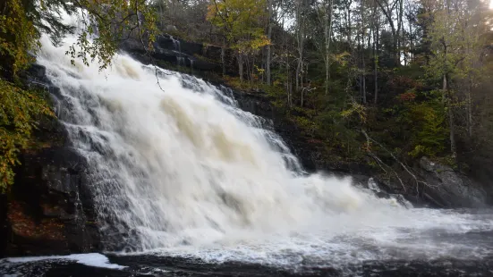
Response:
[{"label": "autumn forest with yellow-green leaves and bare trunks around the falls", "polygon": [[[234,53],[228,86],[264,92],[337,164],[400,180],[422,156],[489,180],[493,166],[493,7],[481,0],[6,0],[0,4],[0,185],[13,182],[32,130],[53,116],[22,81],[41,33],[87,26],[73,59],[111,65],[161,34]],[[96,23],[96,24],[94,24]],[[99,28],[95,28],[98,26]],[[104,28],[101,28],[103,26]],[[107,28],[106,28],[107,27]],[[92,38],[92,43],[90,42]],[[222,55],[223,57],[225,55]]]}]

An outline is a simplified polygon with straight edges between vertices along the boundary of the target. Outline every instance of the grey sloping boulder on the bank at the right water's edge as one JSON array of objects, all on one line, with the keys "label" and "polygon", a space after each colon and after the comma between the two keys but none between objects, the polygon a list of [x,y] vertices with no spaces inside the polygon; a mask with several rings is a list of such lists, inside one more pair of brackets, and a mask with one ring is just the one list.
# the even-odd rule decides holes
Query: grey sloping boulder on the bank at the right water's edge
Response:
[{"label": "grey sloping boulder on the bank at the right water's edge", "polygon": [[480,184],[474,182],[451,167],[420,160],[421,176],[428,182],[426,192],[445,207],[482,207],[487,201],[487,193]]}]

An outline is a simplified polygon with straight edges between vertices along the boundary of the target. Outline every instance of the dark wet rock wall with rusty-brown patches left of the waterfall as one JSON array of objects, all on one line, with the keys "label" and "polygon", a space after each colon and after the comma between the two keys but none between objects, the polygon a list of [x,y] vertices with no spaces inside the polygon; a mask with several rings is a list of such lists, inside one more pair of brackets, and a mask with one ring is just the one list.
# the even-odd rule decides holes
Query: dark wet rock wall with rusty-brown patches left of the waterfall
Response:
[{"label": "dark wet rock wall with rusty-brown patches left of the waterfall", "polygon": [[[51,88],[44,68],[28,72],[31,85]],[[0,256],[60,255],[101,248],[87,163],[56,119],[35,131],[37,146],[21,153],[10,191],[0,197]]]}]

